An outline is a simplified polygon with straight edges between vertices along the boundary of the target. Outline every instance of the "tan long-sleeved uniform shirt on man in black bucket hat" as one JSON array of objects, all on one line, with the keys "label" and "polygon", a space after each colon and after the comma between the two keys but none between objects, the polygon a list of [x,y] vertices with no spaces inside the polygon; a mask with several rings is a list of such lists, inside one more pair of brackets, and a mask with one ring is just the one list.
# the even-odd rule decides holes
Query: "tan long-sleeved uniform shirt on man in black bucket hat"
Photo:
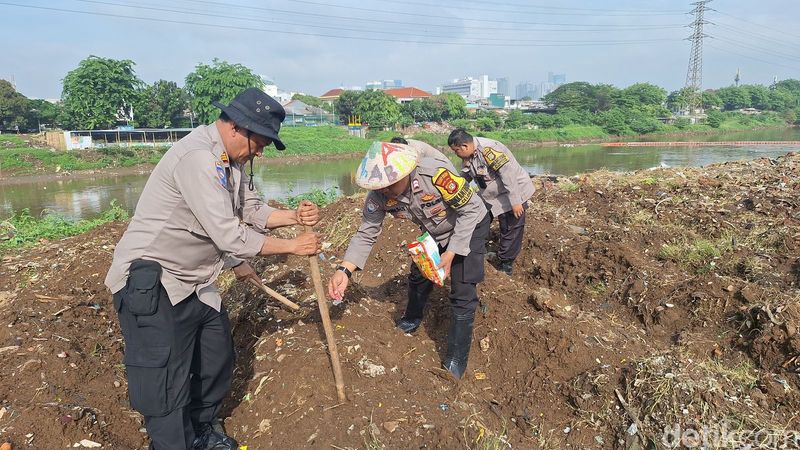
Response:
[{"label": "tan long-sleeved uniform shirt on man in black bucket hat", "polygon": [[220,309],[214,281],[226,260],[259,253],[274,211],[247,189],[249,178],[237,164],[228,167],[224,151],[211,124],[164,154],[114,250],[105,280],[111,292],[125,287],[133,260],[148,259],[161,264],[161,283],[173,305],[196,292],[200,301]]}]

